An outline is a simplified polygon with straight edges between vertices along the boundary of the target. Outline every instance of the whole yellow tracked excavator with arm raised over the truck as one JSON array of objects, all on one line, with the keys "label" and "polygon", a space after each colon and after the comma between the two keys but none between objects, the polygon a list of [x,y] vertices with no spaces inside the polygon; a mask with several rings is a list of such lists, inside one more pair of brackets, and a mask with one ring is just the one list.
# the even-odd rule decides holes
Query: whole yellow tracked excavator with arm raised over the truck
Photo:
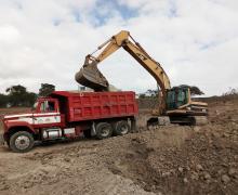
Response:
[{"label": "whole yellow tracked excavator with arm raised over the truck", "polygon": [[[97,47],[97,50],[85,56],[81,69],[76,74],[76,81],[94,91],[108,91],[109,83],[97,65],[118,49],[123,48],[131,54],[157,81],[159,93],[159,106],[153,112],[147,126],[167,123],[200,125],[207,122],[208,104],[195,102],[190,98],[188,87],[171,88],[170,79],[161,65],[131,37],[129,31],[121,30],[109,40]],[[103,51],[93,56],[98,50]]]}]

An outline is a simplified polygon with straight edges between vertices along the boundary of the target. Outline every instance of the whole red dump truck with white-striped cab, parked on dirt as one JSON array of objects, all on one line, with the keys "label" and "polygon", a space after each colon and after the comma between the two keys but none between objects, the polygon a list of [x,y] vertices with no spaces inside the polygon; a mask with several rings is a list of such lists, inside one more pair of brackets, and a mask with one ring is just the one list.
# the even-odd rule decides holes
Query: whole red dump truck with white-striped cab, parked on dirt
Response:
[{"label": "whole red dump truck with white-striped cab, parked on dirt", "polygon": [[31,113],[4,116],[2,140],[13,152],[24,153],[35,141],[123,135],[134,129],[137,113],[131,91],[55,91],[38,99]]}]

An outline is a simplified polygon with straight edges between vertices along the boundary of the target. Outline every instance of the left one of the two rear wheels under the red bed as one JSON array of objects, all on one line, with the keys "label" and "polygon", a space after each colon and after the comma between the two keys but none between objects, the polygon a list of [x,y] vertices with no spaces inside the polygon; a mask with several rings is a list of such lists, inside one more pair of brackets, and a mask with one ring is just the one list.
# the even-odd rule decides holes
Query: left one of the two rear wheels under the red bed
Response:
[{"label": "left one of the two rear wheels under the red bed", "polygon": [[96,138],[100,140],[107,139],[113,134],[113,127],[108,122],[100,122],[96,126]]}]

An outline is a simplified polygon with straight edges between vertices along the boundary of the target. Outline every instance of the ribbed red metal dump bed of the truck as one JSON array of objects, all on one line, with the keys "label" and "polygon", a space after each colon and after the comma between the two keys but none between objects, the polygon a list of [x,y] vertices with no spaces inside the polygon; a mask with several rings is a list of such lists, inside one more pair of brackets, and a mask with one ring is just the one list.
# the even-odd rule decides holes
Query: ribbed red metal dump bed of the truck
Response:
[{"label": "ribbed red metal dump bed of the truck", "polygon": [[137,115],[135,93],[119,92],[67,92],[51,94],[58,99],[61,113],[69,122]]}]

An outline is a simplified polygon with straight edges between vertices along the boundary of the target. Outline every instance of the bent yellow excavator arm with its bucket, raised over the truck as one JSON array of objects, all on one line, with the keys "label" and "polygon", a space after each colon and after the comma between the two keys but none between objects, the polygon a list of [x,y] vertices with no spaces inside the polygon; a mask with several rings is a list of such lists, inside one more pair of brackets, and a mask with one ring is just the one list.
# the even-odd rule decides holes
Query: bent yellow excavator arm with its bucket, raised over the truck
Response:
[{"label": "bent yellow excavator arm with its bucket, raised over the truck", "polygon": [[118,49],[123,48],[131,54],[157,81],[166,99],[167,90],[171,89],[169,77],[161,65],[151,58],[148,53],[130,36],[129,31],[122,30],[101,44],[96,51],[102,50],[98,56],[87,55],[83,67],[76,74],[76,80],[95,91],[106,91],[108,82],[97,69],[97,64],[111,55]]}]

